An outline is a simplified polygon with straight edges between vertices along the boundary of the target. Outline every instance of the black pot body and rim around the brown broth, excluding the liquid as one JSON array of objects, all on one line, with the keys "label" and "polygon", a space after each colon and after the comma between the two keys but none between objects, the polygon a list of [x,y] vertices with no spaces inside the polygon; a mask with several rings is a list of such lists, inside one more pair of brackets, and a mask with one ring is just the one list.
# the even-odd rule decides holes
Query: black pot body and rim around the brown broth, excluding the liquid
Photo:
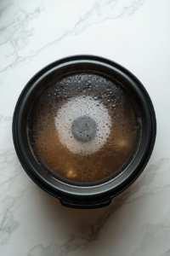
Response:
[{"label": "black pot body and rim around the brown broth, excluding the liquid", "polygon": [[[44,88],[54,79],[68,73],[101,73],[117,81],[128,91],[138,104],[142,119],[142,132],[139,148],[126,170],[116,177],[104,179],[99,183],[68,183],[65,179],[53,177],[44,170],[32,153],[27,122],[33,102]],[[54,195],[62,205],[75,208],[105,207],[111,199],[127,189],[144,170],[156,140],[156,115],[150,96],[139,80],[116,62],[93,55],[76,55],[54,61],[42,68],[21,92],[14,110],[14,147],[20,163],[31,179],[39,187]]]}]

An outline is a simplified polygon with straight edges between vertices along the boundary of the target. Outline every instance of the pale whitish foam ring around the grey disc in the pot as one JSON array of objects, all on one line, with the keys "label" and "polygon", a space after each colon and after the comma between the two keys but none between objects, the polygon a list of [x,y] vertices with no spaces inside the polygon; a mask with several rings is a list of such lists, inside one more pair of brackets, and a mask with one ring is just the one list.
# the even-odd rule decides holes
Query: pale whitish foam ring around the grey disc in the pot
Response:
[{"label": "pale whitish foam ring around the grey disc in the pot", "polygon": [[[77,117],[87,115],[93,118],[97,125],[94,139],[88,143],[78,142],[71,133],[71,124]],[[102,148],[110,135],[111,116],[107,108],[90,96],[72,97],[59,108],[55,117],[55,127],[59,141],[74,154],[93,154]]]}]

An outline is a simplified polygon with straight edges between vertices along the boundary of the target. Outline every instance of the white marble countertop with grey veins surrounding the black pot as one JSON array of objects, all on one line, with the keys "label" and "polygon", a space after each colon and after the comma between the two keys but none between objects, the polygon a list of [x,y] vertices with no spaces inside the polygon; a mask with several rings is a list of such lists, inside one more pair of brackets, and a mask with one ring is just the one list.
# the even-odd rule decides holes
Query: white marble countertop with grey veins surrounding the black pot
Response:
[{"label": "white marble countertop with grey veins surrounding the black pot", "polygon": [[[0,255],[170,255],[170,1],[0,1]],[[62,207],[26,175],[12,117],[27,81],[67,55],[101,55],[148,90],[157,137],[150,161],[109,207]]]}]

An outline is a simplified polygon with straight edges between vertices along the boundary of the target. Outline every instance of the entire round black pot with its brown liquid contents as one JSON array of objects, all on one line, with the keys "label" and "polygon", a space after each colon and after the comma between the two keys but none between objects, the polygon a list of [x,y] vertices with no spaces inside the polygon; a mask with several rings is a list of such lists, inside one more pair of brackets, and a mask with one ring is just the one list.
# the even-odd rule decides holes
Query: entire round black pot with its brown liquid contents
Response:
[{"label": "entire round black pot with its brown liquid contents", "polygon": [[133,183],[156,139],[150,96],[113,61],[77,55],[37,73],[14,110],[20,163],[67,207],[94,208]]}]

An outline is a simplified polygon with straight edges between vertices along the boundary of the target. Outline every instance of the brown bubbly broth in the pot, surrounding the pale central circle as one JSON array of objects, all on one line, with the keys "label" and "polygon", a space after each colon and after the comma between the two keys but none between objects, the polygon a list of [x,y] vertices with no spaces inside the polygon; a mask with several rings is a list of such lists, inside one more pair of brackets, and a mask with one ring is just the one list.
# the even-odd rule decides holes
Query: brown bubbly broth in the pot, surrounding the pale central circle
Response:
[{"label": "brown bubbly broth in the pot, surrounding the pale central circle", "polygon": [[[92,96],[93,101],[97,98],[97,104],[105,106],[111,118],[110,134],[104,145],[92,154],[71,152],[61,143],[55,125],[59,109],[79,96]],[[121,84],[98,74],[73,74],[53,81],[31,108],[31,148],[42,160],[42,165],[45,163],[61,179],[64,177],[68,181],[93,183],[113,177],[124,170],[138,148],[139,112],[135,113],[137,106],[133,105]]]}]

